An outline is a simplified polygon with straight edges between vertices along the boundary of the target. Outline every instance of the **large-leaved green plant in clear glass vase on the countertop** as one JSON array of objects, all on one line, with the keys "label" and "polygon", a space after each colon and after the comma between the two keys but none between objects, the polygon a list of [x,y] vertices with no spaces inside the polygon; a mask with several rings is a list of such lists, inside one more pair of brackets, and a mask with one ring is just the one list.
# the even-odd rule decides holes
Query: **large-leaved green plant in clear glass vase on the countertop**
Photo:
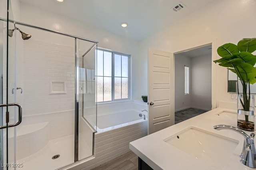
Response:
[{"label": "large-leaved green plant in clear glass vase on the countertop", "polygon": [[254,131],[255,122],[254,95],[250,94],[250,84],[256,83],[256,56],[252,54],[255,50],[256,38],[244,38],[237,45],[226,43],[218,47],[218,55],[222,58],[214,61],[236,73],[241,82],[243,91],[242,94],[238,91],[237,127],[249,131]]}]

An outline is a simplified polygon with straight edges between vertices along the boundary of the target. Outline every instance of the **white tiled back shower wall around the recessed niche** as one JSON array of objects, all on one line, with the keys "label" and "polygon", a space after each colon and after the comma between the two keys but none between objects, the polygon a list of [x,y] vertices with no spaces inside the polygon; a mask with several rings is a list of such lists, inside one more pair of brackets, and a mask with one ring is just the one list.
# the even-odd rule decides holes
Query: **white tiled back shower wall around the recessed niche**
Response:
[{"label": "white tiled back shower wall around the recessed niche", "polygon": [[[36,115],[74,109],[74,47],[27,40],[23,42],[23,114]],[[66,94],[52,94],[52,81],[62,81]]]}]

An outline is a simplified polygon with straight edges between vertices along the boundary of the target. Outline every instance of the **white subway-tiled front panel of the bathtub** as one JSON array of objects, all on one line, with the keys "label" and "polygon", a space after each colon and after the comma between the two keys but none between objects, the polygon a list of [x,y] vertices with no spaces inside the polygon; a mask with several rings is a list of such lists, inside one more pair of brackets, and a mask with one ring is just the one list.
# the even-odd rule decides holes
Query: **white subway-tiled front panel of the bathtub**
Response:
[{"label": "white subway-tiled front panel of the bathtub", "polygon": [[66,169],[90,170],[118,156],[130,152],[129,142],[148,134],[148,122],[142,121],[125,127],[95,134],[94,158],[79,162]]}]

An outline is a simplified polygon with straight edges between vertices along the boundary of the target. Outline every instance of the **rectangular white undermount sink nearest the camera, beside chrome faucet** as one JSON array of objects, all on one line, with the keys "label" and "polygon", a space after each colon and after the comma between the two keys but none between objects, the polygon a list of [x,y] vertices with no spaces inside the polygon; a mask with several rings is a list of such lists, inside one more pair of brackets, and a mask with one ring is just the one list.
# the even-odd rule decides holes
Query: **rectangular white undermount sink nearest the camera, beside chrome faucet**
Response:
[{"label": "rectangular white undermount sink nearest the camera, beside chrome faucet", "polygon": [[224,168],[239,143],[195,127],[182,130],[164,142],[218,169]]}]

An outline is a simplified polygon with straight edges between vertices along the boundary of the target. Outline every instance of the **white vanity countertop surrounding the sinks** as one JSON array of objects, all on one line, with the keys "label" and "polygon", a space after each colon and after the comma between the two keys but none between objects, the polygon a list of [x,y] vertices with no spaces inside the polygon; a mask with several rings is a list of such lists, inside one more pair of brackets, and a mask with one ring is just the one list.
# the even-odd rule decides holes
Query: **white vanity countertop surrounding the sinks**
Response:
[{"label": "white vanity countertop surrounding the sinks", "polygon": [[[234,115],[230,114],[231,116],[225,116],[223,114],[219,116],[218,114],[223,111],[233,112]],[[216,108],[192,119],[188,119],[130,142],[130,149],[154,170],[218,170],[215,166],[211,166],[197,159],[195,156],[164,142],[166,138],[187,128],[194,127],[239,141],[238,146],[231,154],[230,158],[226,158],[227,163],[221,168],[222,170],[253,170],[240,163],[244,137],[232,130],[215,130],[213,128],[215,125],[230,125],[236,127],[236,116],[236,110]],[[251,133],[249,131],[244,132],[249,135]]]}]

